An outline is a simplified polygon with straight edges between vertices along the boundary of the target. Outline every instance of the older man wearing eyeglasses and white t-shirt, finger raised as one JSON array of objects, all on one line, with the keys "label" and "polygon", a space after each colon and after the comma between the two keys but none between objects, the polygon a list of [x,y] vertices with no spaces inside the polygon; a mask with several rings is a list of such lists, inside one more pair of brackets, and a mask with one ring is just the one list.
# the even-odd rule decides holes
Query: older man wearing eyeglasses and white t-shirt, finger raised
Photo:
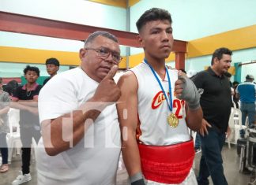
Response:
[{"label": "older man wearing eyeglasses and white t-shirt, finger raised", "polygon": [[59,73],[40,93],[39,185],[115,184],[120,90],[113,77],[122,59],[118,40],[96,31],[79,56],[81,66]]}]

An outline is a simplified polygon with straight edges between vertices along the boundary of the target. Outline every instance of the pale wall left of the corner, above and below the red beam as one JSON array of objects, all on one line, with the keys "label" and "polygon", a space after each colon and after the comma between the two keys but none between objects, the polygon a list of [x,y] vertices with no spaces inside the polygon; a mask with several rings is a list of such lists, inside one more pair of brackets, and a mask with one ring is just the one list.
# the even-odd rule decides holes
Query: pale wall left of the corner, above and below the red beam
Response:
[{"label": "pale wall left of the corner, above and below the red beam", "polygon": [[[0,11],[126,31],[126,9],[85,0],[0,0]],[[69,39],[0,31],[0,46],[78,53],[83,43]],[[121,46],[121,54],[126,55],[125,46]],[[0,76],[20,77],[23,75],[25,65],[0,62]],[[40,68],[41,76],[48,76],[45,65],[35,66]],[[68,68],[61,66],[59,71]]]}]

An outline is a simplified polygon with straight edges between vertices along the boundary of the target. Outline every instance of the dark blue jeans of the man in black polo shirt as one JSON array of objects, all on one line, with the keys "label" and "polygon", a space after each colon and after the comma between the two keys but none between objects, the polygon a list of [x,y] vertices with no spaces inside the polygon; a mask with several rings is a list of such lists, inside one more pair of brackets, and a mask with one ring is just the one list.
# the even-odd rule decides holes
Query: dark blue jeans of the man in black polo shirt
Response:
[{"label": "dark blue jeans of the man in black polo shirt", "polygon": [[225,142],[225,133],[219,133],[209,129],[209,135],[201,139],[201,161],[198,174],[198,185],[208,185],[208,177],[211,176],[214,185],[228,185],[224,176],[221,150]]}]

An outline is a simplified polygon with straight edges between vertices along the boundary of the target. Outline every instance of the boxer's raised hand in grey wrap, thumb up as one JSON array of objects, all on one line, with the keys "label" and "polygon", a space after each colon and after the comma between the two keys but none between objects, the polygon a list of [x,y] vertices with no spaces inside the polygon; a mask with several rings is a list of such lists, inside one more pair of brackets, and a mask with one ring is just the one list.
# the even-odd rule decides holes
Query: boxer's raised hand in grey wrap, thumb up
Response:
[{"label": "boxer's raised hand in grey wrap, thumb up", "polygon": [[179,71],[178,80],[175,82],[176,97],[187,102],[190,109],[198,109],[200,106],[200,95],[194,83]]}]

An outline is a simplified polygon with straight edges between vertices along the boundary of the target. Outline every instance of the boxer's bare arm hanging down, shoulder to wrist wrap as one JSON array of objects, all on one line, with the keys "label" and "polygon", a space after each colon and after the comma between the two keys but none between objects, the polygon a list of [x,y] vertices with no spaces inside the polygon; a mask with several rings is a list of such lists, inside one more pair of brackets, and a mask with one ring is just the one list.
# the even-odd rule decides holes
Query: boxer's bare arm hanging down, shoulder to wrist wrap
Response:
[{"label": "boxer's bare arm hanging down, shoulder to wrist wrap", "polygon": [[129,176],[141,172],[141,159],[136,140],[137,128],[137,79],[133,72],[120,77],[118,86],[121,98],[117,104],[122,131],[122,157]]}]

